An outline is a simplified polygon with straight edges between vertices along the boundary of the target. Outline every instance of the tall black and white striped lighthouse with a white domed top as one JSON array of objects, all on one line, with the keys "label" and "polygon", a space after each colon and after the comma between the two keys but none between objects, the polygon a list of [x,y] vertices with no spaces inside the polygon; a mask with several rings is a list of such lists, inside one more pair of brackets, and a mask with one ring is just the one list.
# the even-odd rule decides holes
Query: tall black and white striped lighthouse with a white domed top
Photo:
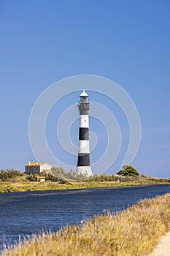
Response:
[{"label": "tall black and white striped lighthouse with a white domed top", "polygon": [[80,111],[80,126],[79,126],[79,153],[77,160],[77,173],[92,176],[92,170],[90,166],[90,147],[89,147],[89,102],[88,94],[83,90],[80,94],[80,101],[78,103]]}]

